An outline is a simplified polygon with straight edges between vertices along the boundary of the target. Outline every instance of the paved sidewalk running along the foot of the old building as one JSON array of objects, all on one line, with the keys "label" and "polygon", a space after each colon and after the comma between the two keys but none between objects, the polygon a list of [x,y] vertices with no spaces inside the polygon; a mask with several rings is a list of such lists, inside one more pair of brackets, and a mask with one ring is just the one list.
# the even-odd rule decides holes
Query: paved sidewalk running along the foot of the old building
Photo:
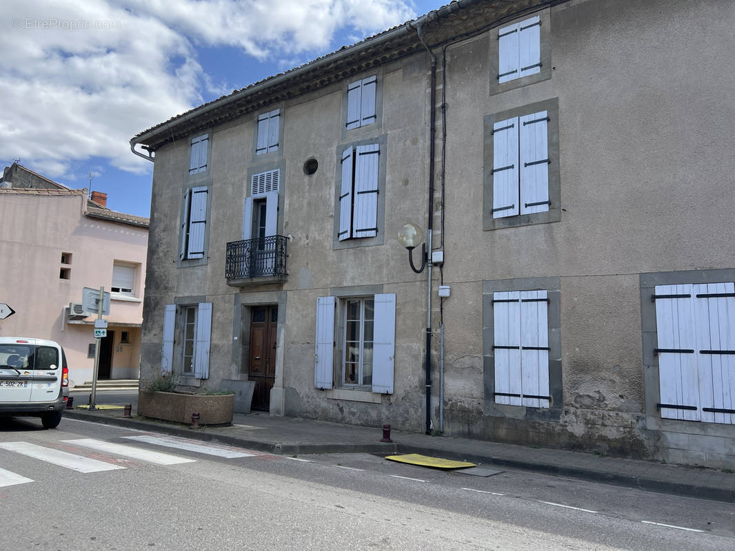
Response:
[{"label": "paved sidewalk running along the foot of the old building", "polygon": [[[135,414],[135,405],[133,408]],[[421,453],[467,460],[493,467],[511,467],[548,475],[591,480],[666,494],[677,494],[735,503],[735,473],[639,461],[599,457],[567,450],[497,444],[481,440],[426,436],[392,431],[392,444],[380,442],[380,428],[339,423],[270,417],[268,414],[235,414],[232,426],[198,430],[148,419],[126,419],[122,409],[65,410],[65,417],[109,425],[201,439],[279,455],[309,453]]]}]

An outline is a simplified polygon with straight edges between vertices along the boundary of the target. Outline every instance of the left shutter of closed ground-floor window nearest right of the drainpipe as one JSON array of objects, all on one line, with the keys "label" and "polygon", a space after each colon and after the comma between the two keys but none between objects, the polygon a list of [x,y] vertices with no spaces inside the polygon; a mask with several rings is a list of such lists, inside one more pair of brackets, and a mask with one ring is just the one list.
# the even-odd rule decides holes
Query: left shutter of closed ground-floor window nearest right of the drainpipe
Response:
[{"label": "left shutter of closed ground-floor window nearest right of the drainpipe", "polygon": [[520,292],[492,295],[495,328],[495,403],[521,405]]}]

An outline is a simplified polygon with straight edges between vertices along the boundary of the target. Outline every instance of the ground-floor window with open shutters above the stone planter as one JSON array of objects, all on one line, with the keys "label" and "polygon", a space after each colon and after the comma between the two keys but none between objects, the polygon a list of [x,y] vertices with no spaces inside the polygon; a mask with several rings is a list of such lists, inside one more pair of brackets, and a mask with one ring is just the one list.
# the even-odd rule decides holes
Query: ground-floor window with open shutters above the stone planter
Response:
[{"label": "ground-floor window with open shutters above the stone planter", "polygon": [[[163,317],[161,372],[209,378],[212,303],[167,304]],[[178,336],[178,338],[177,338]],[[178,342],[177,347],[174,342]]]}]

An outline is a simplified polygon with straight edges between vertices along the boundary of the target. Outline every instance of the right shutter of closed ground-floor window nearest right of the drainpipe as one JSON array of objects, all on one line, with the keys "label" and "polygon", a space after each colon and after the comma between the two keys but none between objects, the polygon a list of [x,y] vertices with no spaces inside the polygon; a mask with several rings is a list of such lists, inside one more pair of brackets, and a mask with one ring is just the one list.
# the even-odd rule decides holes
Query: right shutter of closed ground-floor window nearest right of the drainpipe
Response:
[{"label": "right shutter of closed ground-floor window nearest right of the drainpipe", "polygon": [[532,408],[550,406],[547,300],[546,291],[520,293],[521,403]]}]

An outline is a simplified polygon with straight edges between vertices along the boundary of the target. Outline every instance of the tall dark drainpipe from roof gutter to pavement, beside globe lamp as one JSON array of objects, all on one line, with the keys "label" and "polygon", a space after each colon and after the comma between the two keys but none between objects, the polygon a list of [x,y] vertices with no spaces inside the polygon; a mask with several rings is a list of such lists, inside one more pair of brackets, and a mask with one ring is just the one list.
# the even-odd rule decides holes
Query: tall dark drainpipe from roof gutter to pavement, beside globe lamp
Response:
[{"label": "tall dark drainpipe from roof gutter to pavement, beside globe lamp", "polygon": [[[436,112],[434,101],[436,96],[437,82],[437,57],[431,52],[423,39],[423,23],[421,18],[417,21],[415,29],[418,39],[426,48],[431,57],[431,82],[429,98],[429,220],[426,224],[426,259],[427,281],[426,281],[426,434],[431,434],[431,230],[434,228],[434,134],[436,133]],[[411,24],[409,24],[411,25]]]}]

